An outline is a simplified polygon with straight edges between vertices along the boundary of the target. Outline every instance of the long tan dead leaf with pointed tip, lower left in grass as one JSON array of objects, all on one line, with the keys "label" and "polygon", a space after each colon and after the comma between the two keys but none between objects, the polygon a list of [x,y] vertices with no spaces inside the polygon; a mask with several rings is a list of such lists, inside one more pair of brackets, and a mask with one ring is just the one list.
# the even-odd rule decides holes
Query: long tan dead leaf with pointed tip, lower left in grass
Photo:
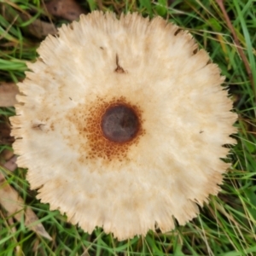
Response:
[{"label": "long tan dead leaf with pointed tip, lower left in grass", "polygon": [[38,236],[44,236],[50,241],[52,240],[46,230],[44,230],[43,224],[36,223],[39,222],[37,215],[30,207],[25,207],[24,201],[20,198],[17,191],[9,185],[2,173],[0,173],[0,204],[17,221],[20,221],[23,215],[25,215],[25,225],[28,229],[36,232]]}]

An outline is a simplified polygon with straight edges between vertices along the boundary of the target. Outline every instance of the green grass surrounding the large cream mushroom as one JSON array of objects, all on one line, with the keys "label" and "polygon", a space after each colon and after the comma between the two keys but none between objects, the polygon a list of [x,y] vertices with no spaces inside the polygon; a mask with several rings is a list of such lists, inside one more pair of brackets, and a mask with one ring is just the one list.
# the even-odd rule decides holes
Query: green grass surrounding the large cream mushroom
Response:
[{"label": "green grass surrounding the large cream mushroom", "polygon": [[[82,2],[82,1],[81,1]],[[11,222],[0,208],[0,255],[256,255],[256,3],[255,1],[224,1],[250,72],[239,55],[234,36],[230,32],[223,11],[216,1],[84,1],[84,9],[137,11],[144,16],[161,15],[186,28],[201,47],[207,49],[212,60],[226,76],[238,120],[237,144],[232,148],[232,168],[224,176],[218,197],[211,196],[209,205],[185,226],[177,226],[167,234],[148,232],[148,236],[129,241],[116,241],[96,229],[88,235],[77,226],[67,224],[59,212],[35,198],[26,182],[26,170],[14,173],[0,167],[10,183],[38,215],[45,230],[53,237],[48,241],[27,230],[24,220]],[[17,82],[25,77],[26,61],[35,60],[41,40],[33,38],[27,27],[35,19],[47,20],[40,1],[0,1],[0,81]],[[32,14],[22,20],[18,14]],[[13,14],[7,19],[8,14]],[[60,25],[63,20],[53,20]],[[67,21],[66,21],[67,22]],[[254,88],[253,88],[254,86]],[[15,114],[14,108],[0,108],[2,122]],[[0,152],[4,145],[0,145]],[[20,248],[20,249],[19,249]]]}]

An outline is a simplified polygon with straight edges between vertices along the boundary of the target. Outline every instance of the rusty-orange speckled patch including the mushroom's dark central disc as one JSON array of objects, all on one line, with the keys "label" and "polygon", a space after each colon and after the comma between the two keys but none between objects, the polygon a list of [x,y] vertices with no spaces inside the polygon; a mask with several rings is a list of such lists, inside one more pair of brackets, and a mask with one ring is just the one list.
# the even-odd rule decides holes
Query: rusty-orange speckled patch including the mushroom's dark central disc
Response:
[{"label": "rusty-orange speckled patch including the mushroom's dark central disc", "polygon": [[142,110],[125,97],[82,104],[74,108],[67,118],[79,131],[81,161],[102,158],[124,160],[132,145],[143,136]]}]

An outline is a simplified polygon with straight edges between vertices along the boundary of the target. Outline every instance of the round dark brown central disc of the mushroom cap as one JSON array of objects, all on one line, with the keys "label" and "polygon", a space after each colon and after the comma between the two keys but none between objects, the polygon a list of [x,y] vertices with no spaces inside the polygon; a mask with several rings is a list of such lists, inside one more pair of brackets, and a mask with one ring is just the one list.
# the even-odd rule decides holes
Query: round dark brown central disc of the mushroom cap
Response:
[{"label": "round dark brown central disc of the mushroom cap", "polygon": [[126,143],[137,135],[139,121],[132,108],[119,104],[110,107],[102,116],[104,137],[113,143]]}]

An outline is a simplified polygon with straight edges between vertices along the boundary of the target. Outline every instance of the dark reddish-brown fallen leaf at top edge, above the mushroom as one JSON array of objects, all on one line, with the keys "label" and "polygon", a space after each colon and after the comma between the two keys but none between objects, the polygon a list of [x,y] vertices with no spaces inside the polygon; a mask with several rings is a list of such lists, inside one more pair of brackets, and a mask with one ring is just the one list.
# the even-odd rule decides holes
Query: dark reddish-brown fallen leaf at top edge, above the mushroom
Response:
[{"label": "dark reddish-brown fallen leaf at top edge, above the mushroom", "polygon": [[51,0],[45,3],[50,15],[66,20],[78,20],[79,15],[85,14],[84,9],[74,0]]}]

